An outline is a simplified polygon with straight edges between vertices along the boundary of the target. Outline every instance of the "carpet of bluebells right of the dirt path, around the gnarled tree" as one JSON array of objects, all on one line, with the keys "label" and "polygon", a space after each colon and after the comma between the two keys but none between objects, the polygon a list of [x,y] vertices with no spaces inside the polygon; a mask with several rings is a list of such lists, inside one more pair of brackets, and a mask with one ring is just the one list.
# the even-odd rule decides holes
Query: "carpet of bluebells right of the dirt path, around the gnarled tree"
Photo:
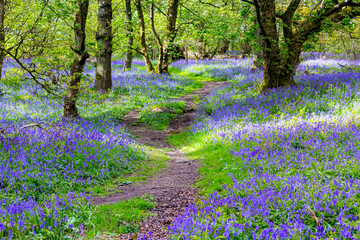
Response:
[{"label": "carpet of bluebells right of the dirt path, around the gnarled tree", "polygon": [[359,63],[305,54],[297,86],[258,94],[251,59],[177,62],[229,81],[189,134],[231,156],[213,161],[232,184],[178,216],[173,238],[359,239]]}]

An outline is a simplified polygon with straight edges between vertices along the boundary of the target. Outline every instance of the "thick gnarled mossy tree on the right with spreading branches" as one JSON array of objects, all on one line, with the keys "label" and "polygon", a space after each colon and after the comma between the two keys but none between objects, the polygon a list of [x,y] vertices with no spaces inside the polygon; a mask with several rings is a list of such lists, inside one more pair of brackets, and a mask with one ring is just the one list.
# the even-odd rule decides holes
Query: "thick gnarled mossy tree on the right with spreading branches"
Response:
[{"label": "thick gnarled mossy tree on the right with spreading branches", "polygon": [[[353,1],[323,2],[316,14],[295,28],[293,18],[301,0],[291,0],[286,10],[276,14],[275,0],[254,0],[257,20],[263,38],[264,79],[262,92],[271,88],[295,85],[294,76],[300,63],[300,54],[304,43],[314,33],[322,30],[325,19],[340,22],[343,19],[360,16],[360,4]],[[349,10],[350,8],[350,10]],[[283,47],[279,46],[276,17],[283,21]]]}]

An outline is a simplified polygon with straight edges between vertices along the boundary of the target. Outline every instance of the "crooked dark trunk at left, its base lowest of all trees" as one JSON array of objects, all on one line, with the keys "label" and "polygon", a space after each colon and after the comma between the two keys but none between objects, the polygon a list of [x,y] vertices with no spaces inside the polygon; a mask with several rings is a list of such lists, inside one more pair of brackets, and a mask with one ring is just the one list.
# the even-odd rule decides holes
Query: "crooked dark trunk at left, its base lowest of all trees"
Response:
[{"label": "crooked dark trunk at left, its base lowest of all trees", "polygon": [[79,116],[76,101],[80,91],[82,72],[89,54],[85,48],[85,28],[89,10],[89,0],[78,0],[79,11],[74,21],[75,46],[71,49],[78,55],[70,68],[70,82],[64,97],[64,117]]}]

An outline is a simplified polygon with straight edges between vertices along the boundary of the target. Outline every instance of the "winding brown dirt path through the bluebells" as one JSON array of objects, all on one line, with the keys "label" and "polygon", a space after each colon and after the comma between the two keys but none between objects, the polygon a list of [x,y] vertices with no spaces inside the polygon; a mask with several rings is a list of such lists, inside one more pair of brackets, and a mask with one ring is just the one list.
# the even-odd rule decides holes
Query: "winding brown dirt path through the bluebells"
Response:
[{"label": "winding brown dirt path through the bluebells", "polygon": [[[138,237],[152,232],[153,238],[166,239],[167,227],[170,226],[177,215],[184,212],[188,204],[194,204],[196,201],[196,189],[193,185],[198,178],[199,163],[187,159],[179,150],[171,148],[165,139],[169,132],[184,131],[194,120],[193,98],[195,96],[202,99],[215,88],[225,84],[225,82],[205,82],[203,88],[180,98],[179,100],[186,103],[185,112],[172,120],[166,131],[148,129],[145,128],[144,124],[133,125],[133,123],[139,120],[140,110],[128,113],[124,117],[123,122],[135,136],[138,136],[137,140],[139,142],[163,149],[163,152],[171,159],[169,166],[158,176],[149,179],[141,185],[120,186],[118,190],[121,193],[96,197],[93,203],[96,205],[112,204],[149,194],[156,200],[155,215],[140,224]],[[124,234],[116,239],[130,240],[134,239],[134,236],[132,234]]]}]

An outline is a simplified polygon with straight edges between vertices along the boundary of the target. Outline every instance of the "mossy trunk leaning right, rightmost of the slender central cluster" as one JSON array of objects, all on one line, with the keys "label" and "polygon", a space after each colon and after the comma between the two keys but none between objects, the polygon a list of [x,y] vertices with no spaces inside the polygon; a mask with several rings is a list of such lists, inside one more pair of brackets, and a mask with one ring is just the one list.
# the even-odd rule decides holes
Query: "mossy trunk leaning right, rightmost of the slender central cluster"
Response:
[{"label": "mossy trunk leaning right, rightmost of the slender central cluster", "polygon": [[170,53],[173,51],[176,37],[176,20],[178,15],[180,0],[169,0],[169,9],[167,13],[167,27],[163,42],[163,63],[162,73],[169,73]]}]

